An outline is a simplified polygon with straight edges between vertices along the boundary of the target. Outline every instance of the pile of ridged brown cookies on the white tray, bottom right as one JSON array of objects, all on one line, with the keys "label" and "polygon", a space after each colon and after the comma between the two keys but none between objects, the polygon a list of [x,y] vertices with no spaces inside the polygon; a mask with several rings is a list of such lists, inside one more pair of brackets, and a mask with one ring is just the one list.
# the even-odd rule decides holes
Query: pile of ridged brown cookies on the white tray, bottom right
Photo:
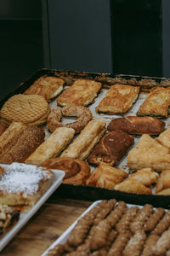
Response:
[{"label": "pile of ridged brown cookies on the white tray, bottom right", "polygon": [[77,221],[52,255],[169,255],[170,211],[129,207],[124,201],[100,201]]}]

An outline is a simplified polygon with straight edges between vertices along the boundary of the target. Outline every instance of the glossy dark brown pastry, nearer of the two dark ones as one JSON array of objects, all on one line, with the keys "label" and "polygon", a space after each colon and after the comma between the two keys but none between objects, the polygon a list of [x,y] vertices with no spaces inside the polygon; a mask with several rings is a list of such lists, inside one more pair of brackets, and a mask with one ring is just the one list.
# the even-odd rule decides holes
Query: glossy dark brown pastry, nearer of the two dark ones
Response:
[{"label": "glossy dark brown pastry, nearer of the two dark ones", "polygon": [[117,130],[106,133],[99,144],[88,157],[88,162],[94,165],[105,163],[110,166],[117,165],[119,160],[127,153],[133,144],[133,137],[127,132]]}]

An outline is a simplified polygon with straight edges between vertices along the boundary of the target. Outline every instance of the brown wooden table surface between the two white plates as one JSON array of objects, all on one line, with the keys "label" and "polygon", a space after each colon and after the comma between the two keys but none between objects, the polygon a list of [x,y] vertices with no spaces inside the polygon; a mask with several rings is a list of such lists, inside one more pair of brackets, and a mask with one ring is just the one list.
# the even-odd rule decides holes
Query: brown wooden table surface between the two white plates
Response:
[{"label": "brown wooden table surface between the two white plates", "polygon": [[92,203],[50,198],[4,247],[0,255],[41,255]]}]

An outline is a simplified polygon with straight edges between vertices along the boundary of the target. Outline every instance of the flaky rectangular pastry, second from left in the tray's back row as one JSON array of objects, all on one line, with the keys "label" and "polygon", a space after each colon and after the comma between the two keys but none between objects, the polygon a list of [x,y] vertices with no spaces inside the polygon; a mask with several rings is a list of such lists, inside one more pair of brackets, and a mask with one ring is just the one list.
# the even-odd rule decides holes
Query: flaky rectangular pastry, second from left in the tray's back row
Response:
[{"label": "flaky rectangular pastry, second from left in the tray's back row", "polygon": [[94,98],[101,89],[101,83],[88,79],[77,79],[57,99],[59,106],[87,106],[94,102]]}]

